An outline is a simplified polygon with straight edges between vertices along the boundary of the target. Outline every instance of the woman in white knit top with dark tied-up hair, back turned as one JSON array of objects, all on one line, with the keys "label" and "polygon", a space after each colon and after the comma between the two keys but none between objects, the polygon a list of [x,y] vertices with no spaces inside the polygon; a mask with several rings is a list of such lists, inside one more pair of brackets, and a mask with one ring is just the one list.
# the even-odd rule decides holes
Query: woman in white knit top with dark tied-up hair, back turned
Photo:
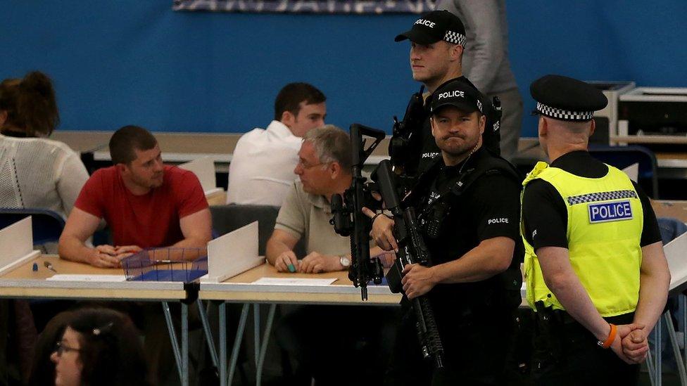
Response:
[{"label": "woman in white knit top with dark tied-up hair, back turned", "polygon": [[67,217],[88,172],[49,136],[59,122],[48,77],[30,72],[0,83],[0,207],[44,208]]}]

